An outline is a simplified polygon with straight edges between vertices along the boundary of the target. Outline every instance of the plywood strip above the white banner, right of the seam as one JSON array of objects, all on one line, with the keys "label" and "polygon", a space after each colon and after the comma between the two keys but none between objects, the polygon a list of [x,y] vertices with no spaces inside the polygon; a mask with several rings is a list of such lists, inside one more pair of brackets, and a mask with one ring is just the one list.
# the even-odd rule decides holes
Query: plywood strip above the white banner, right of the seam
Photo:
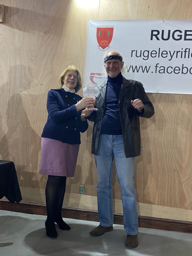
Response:
[{"label": "plywood strip above the white banner, right of the seam", "polygon": [[99,20],[191,19],[190,0],[101,0]]}]

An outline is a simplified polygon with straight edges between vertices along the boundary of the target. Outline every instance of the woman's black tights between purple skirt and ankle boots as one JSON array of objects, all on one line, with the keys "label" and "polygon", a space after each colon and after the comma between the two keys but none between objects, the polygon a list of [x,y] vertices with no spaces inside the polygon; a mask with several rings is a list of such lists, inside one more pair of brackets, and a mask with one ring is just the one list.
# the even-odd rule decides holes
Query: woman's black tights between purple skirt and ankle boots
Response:
[{"label": "woman's black tights between purple skirt and ankle boots", "polygon": [[66,179],[67,177],[64,176],[48,175],[45,189],[48,222],[62,220],[61,209],[65,195]]}]

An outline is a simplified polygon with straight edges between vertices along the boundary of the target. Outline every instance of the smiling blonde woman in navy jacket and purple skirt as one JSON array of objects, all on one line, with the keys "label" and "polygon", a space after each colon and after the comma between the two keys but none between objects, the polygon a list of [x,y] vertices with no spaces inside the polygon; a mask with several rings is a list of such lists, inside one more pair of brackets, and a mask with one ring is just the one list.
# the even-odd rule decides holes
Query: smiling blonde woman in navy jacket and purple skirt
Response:
[{"label": "smiling blonde woman in navy jacket and purple skirt", "polygon": [[80,72],[73,65],[63,71],[59,84],[60,89],[48,92],[48,118],[41,135],[39,173],[48,175],[45,189],[48,237],[57,237],[55,222],[62,230],[70,229],[61,217],[66,178],[74,176],[80,132],[88,128],[87,116],[92,110],[84,108],[95,105],[93,98],[81,98],[75,93],[82,83]]}]

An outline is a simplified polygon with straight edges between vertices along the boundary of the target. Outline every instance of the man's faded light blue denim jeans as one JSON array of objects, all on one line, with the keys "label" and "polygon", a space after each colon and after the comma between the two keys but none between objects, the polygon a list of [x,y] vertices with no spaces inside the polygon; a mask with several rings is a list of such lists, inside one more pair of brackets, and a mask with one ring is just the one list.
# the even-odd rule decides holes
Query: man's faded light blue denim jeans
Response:
[{"label": "man's faded light blue denim jeans", "polygon": [[94,155],[97,166],[97,201],[100,225],[113,225],[113,158],[121,187],[123,222],[126,234],[138,233],[138,212],[134,188],[134,157],[125,157],[123,136],[100,134],[98,155]]}]

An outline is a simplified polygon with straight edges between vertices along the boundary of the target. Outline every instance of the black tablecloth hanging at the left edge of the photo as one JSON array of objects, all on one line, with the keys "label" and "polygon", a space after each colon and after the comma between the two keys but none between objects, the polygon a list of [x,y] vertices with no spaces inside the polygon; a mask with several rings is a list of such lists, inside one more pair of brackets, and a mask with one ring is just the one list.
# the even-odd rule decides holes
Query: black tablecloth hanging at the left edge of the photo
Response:
[{"label": "black tablecloth hanging at the left edge of the photo", "polygon": [[0,160],[0,198],[4,196],[11,203],[22,200],[14,163]]}]

